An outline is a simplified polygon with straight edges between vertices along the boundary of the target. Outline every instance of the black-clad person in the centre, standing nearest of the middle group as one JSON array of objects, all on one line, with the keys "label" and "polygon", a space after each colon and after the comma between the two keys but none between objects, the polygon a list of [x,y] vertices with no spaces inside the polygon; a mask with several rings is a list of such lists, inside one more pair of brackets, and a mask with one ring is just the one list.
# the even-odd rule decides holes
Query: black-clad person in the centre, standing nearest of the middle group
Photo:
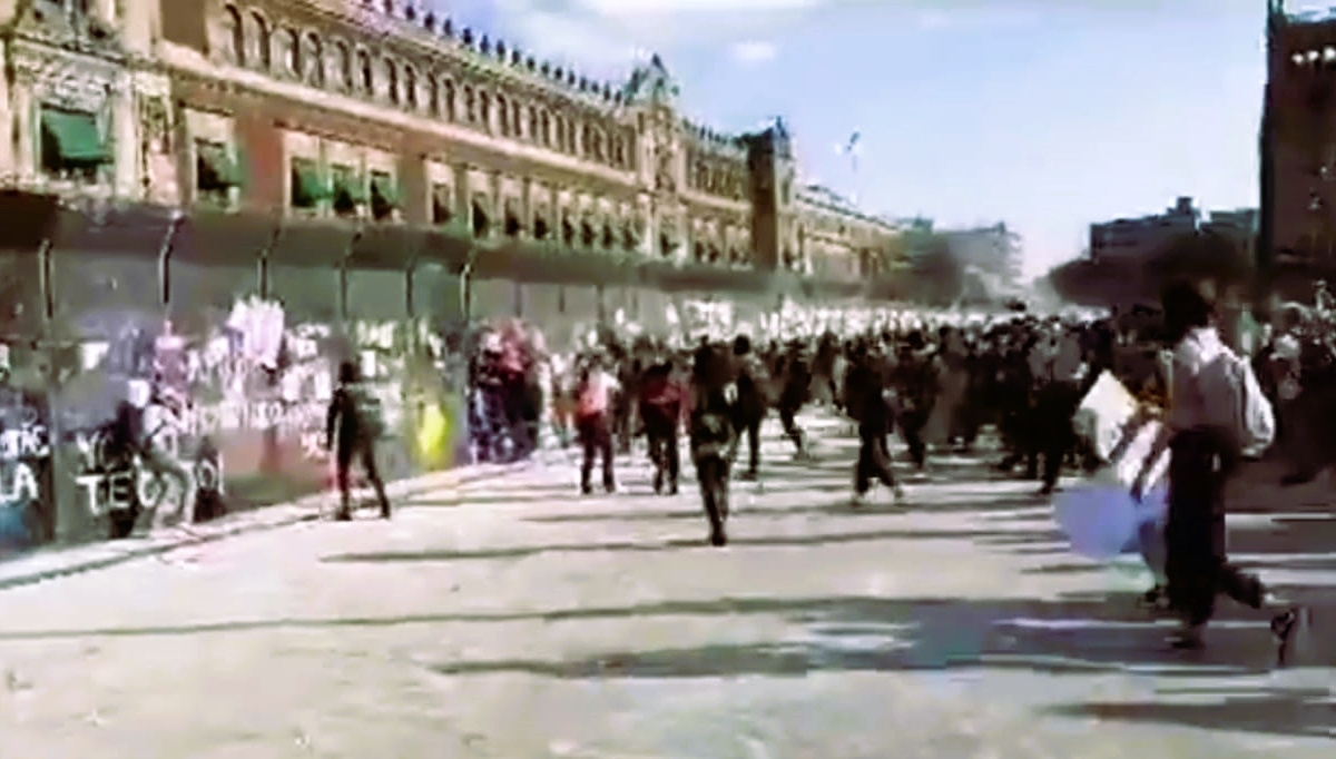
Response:
[{"label": "black-clad person in the centre, standing nearest of the middle group", "polygon": [[692,362],[689,438],[691,458],[709,520],[711,545],[725,545],[728,536],[728,470],[737,450],[733,429],[736,413],[728,396],[736,388],[728,382],[728,367],[713,349],[701,346]]}]

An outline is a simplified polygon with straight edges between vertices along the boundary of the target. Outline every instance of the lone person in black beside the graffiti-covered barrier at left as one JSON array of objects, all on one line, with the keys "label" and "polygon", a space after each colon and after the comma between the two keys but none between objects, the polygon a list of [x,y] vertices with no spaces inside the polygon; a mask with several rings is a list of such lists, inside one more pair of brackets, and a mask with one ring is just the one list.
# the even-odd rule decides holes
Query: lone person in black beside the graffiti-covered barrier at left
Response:
[{"label": "lone person in black beside the graffiti-covered barrier at left", "polygon": [[381,502],[381,517],[390,518],[390,500],[385,496],[385,482],[375,466],[375,438],[379,437],[379,418],[374,402],[359,386],[357,366],[350,361],[339,363],[338,388],[330,398],[325,422],[325,448],[334,450],[335,477],[338,478],[339,510],[337,518],[353,518],[351,496],[349,493],[349,466],[358,458],[366,478],[375,489]]}]

